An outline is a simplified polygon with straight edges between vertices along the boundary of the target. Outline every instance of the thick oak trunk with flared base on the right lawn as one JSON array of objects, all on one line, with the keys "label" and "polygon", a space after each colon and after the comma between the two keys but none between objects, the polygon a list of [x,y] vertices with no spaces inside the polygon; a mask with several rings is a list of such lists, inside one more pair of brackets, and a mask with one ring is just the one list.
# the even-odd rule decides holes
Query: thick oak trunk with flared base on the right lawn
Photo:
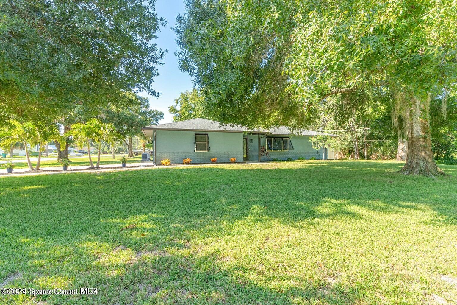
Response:
[{"label": "thick oak trunk with flared base on the right lawn", "polygon": [[400,170],[403,174],[420,174],[434,177],[445,175],[433,160],[430,138],[429,120],[430,100],[423,101],[413,97],[411,99],[411,112],[409,115],[409,139],[406,163]]}]

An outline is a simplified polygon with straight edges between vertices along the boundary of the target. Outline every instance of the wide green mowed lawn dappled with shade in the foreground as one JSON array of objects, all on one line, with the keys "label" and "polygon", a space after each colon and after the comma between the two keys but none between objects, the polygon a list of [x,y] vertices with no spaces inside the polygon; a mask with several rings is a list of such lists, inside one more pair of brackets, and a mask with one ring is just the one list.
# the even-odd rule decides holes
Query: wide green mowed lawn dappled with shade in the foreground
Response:
[{"label": "wide green mowed lawn dappled with shade in the foreground", "polygon": [[457,166],[436,179],[392,173],[401,166],[0,178],[0,283],[98,289],[0,302],[456,304]]}]

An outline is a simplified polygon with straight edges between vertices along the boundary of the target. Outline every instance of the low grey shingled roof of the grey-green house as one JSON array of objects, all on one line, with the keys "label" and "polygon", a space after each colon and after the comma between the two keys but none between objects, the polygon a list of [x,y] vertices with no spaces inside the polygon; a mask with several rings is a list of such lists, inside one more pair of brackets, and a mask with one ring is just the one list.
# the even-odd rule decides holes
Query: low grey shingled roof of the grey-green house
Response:
[{"label": "low grey shingled roof of the grey-green house", "polygon": [[277,135],[328,135],[334,136],[335,134],[325,134],[318,131],[298,129],[297,131],[290,132],[286,126],[271,129],[248,129],[241,125],[223,124],[218,121],[207,120],[206,118],[194,118],[186,121],[179,121],[173,123],[165,123],[158,125],[151,125],[141,128],[142,130],[181,130],[181,131],[217,131],[217,132],[248,132],[255,134],[277,134]]}]

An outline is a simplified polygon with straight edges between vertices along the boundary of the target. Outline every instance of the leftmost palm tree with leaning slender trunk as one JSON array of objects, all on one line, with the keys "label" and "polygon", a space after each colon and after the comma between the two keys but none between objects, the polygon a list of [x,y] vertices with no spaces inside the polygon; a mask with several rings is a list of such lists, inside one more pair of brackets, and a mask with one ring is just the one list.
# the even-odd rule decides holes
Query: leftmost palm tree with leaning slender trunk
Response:
[{"label": "leftmost palm tree with leaning slender trunk", "polygon": [[30,161],[28,146],[37,144],[38,128],[32,121],[20,123],[19,121],[11,120],[9,122],[11,127],[0,131],[0,147],[10,149],[12,146],[16,145],[17,142],[21,142],[26,151],[29,169],[33,171],[34,168]]}]

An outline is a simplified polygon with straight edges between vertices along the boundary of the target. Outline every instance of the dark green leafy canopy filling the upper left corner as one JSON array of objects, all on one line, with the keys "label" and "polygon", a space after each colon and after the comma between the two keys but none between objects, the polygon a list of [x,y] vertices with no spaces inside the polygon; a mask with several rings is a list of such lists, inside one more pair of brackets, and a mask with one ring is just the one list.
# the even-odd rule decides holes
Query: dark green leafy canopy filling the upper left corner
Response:
[{"label": "dark green leafy canopy filling the upper left corner", "polygon": [[154,1],[1,1],[0,122],[50,122],[152,88],[165,52]]}]

